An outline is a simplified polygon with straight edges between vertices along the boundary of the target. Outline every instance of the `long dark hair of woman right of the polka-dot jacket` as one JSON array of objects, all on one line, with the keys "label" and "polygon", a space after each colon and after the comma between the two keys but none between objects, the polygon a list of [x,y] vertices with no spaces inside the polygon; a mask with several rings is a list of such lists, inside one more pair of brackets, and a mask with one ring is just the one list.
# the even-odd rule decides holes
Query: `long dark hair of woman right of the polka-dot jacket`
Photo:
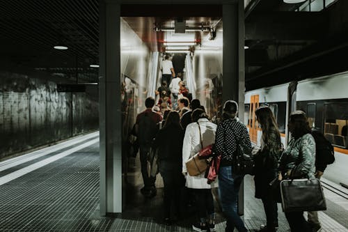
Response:
[{"label": "long dark hair of woman right of the polka-dot jacket", "polygon": [[269,107],[260,107],[256,109],[255,115],[258,117],[258,122],[262,128],[262,139],[264,144],[267,145],[271,131],[275,131],[276,134],[280,134],[278,125],[276,123],[276,118],[274,118],[274,114]]}]

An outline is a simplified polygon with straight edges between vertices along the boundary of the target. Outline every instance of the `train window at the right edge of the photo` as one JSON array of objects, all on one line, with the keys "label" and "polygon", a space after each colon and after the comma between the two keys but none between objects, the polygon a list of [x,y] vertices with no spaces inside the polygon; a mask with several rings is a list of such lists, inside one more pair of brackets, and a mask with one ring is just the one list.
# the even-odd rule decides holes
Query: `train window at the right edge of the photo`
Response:
[{"label": "train window at the right edge of the photo", "polygon": [[324,136],[331,144],[348,148],[348,102],[324,103]]}]

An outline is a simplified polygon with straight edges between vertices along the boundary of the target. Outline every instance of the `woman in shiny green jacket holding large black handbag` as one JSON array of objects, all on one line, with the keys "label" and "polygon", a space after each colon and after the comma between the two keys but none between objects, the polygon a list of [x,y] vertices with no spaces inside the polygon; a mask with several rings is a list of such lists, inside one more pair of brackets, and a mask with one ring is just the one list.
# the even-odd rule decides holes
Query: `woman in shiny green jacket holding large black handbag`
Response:
[{"label": "woman in shiny green jacket holding large black handbag", "polygon": [[[310,134],[306,114],[292,112],[287,127],[292,139],[280,158],[278,179],[315,178],[315,140]],[[285,212],[285,216],[292,232],[311,231],[303,211]]]}]

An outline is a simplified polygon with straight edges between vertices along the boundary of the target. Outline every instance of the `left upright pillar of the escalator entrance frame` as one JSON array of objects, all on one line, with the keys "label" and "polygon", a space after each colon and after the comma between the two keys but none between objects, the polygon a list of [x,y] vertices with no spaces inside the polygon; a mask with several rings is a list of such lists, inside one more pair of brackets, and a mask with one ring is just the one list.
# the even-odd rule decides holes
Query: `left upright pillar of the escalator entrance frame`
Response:
[{"label": "left upright pillar of the escalator entrance frame", "polygon": [[100,0],[100,215],[122,212],[120,2]]}]

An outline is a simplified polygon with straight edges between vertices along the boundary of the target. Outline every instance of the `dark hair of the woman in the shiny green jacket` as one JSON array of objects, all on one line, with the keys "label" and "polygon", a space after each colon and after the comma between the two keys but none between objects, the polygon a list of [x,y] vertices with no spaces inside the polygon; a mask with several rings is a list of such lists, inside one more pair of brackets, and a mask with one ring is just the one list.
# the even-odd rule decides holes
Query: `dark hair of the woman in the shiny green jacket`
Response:
[{"label": "dark hair of the woman in the shiny green jacket", "polygon": [[310,133],[310,126],[306,113],[301,110],[296,110],[290,114],[289,123],[292,123],[292,136],[299,139],[304,134]]}]

